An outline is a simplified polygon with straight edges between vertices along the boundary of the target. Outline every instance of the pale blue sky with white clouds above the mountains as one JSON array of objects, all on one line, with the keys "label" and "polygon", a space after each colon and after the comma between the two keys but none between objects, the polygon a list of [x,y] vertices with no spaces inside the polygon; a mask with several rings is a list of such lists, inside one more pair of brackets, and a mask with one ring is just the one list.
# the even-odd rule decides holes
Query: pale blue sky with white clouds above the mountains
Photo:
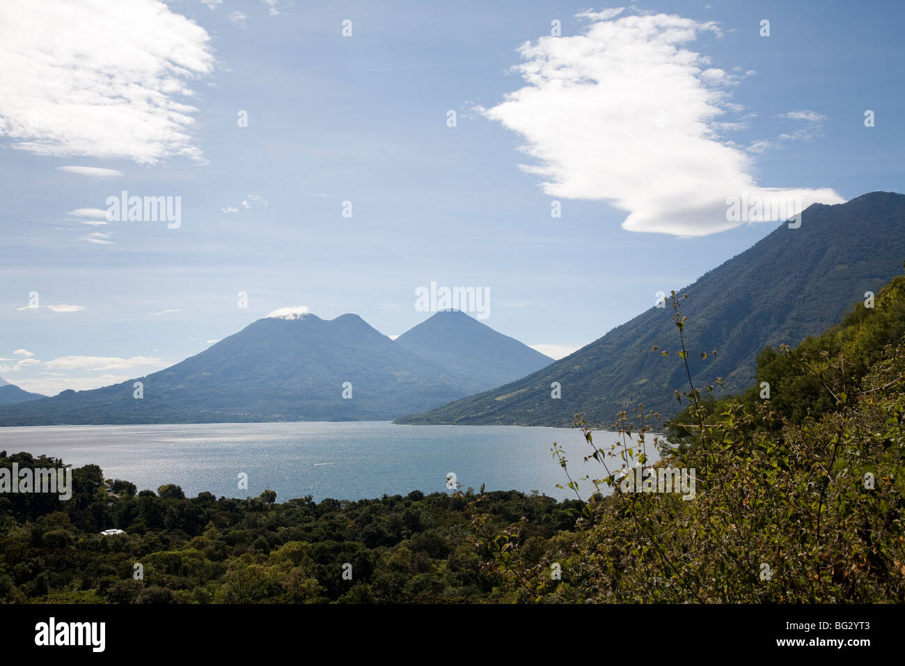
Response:
[{"label": "pale blue sky with white clouds above the mountains", "polygon": [[7,0],[0,377],[97,388],[274,313],[396,336],[432,283],[559,358],[789,207],[905,191],[903,14]]}]

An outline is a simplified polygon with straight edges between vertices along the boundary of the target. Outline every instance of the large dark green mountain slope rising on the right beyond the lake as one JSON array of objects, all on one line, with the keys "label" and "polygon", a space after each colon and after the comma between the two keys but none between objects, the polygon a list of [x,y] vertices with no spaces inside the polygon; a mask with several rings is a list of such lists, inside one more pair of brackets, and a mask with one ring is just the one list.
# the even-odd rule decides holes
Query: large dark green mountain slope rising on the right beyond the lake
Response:
[{"label": "large dark green mountain slope rising on the right beyond the lake", "polygon": [[[745,388],[757,352],[822,333],[865,292],[900,274],[903,258],[905,196],[872,192],[807,208],[800,227],[784,223],[677,290],[688,294],[681,314],[689,317],[684,333],[695,386],[721,376],[725,391]],[[397,422],[564,426],[580,413],[610,426],[619,411],[638,403],[668,418],[679,406],[673,391],[687,387],[678,343],[672,310],[652,307],[527,377]],[[653,345],[671,356],[653,352]],[[716,357],[700,358],[713,349]],[[554,381],[561,385],[558,400],[551,398]]]}]

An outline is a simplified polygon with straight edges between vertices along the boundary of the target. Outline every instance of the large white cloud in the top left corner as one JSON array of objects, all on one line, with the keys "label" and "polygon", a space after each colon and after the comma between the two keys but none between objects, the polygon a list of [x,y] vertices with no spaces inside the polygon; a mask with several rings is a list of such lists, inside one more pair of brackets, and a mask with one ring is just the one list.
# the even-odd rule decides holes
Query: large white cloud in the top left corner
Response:
[{"label": "large white cloud in the top left corner", "polygon": [[210,36],[158,0],[0,5],[0,136],[39,155],[204,157],[186,82],[213,72]]}]

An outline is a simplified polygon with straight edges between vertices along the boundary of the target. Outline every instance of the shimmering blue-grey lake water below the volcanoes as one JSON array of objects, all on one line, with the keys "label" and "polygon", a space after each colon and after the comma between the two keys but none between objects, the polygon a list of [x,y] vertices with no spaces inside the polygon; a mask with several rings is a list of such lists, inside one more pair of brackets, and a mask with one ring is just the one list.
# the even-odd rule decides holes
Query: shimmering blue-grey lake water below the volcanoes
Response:
[{"label": "shimmering blue-grey lake water below the volcanoes", "polygon": [[[595,432],[604,448],[616,433]],[[448,492],[452,472],[462,488],[520,490],[575,498],[551,447],[566,450],[572,478],[605,476],[580,430],[518,426],[402,426],[389,421],[218,423],[128,426],[0,428],[0,449],[96,464],[105,478],[122,478],[139,490],[167,483],[187,497],[210,491],[221,497],[257,497],[265,488],[277,500],[314,496],[363,499]],[[648,438],[653,459],[653,438]],[[608,463],[610,464],[610,463]],[[610,464],[611,469],[619,464]],[[248,475],[248,488],[238,475]],[[579,486],[582,497],[593,487]]]}]

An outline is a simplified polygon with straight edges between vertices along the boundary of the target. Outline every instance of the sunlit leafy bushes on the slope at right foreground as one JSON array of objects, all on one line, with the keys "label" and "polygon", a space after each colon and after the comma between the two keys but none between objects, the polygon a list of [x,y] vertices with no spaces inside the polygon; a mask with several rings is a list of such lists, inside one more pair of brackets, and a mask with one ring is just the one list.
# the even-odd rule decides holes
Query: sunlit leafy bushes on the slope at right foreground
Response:
[{"label": "sunlit leafy bushes on the slope at right foreground", "polygon": [[[680,344],[656,350],[680,368],[689,303],[673,294]],[[538,575],[520,541],[500,548],[512,589],[572,602],[905,601],[905,277],[873,305],[795,350],[761,352],[742,395],[710,400],[711,385],[678,394],[688,406],[669,426],[672,444],[654,441],[663,458],[653,468],[692,470],[691,500],[622,487],[623,466],[649,467],[647,426],[635,449],[600,446],[584,429],[586,460],[602,463],[586,485],[614,493],[587,504],[562,584]]]}]

